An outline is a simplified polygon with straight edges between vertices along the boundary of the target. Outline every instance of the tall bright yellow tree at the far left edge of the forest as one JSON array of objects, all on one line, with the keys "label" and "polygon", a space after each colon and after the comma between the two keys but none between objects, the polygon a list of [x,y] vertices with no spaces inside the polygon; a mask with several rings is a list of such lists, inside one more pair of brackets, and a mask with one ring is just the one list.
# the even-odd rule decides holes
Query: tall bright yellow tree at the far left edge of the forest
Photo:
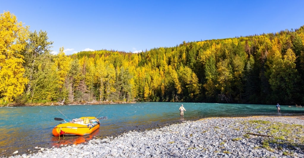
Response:
[{"label": "tall bright yellow tree at the far left edge of the forest", "polygon": [[0,103],[12,102],[21,95],[28,79],[20,53],[25,49],[29,30],[10,12],[0,15]]}]

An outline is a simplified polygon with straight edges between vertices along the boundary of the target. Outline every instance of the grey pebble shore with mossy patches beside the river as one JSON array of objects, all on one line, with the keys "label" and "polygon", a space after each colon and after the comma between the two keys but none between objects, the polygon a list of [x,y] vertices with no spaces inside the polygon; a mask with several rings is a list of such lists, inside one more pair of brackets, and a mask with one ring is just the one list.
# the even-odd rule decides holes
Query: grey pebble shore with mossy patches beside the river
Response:
[{"label": "grey pebble shore with mossy patches beside the river", "polygon": [[185,121],[85,144],[38,148],[31,157],[304,157],[303,116],[253,116]]}]

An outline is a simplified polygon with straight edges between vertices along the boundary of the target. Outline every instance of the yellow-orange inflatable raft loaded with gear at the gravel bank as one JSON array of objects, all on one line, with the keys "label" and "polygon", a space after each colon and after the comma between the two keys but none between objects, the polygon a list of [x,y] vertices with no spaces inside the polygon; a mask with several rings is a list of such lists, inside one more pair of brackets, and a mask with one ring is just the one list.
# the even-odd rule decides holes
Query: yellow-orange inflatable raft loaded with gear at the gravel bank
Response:
[{"label": "yellow-orange inflatable raft loaded with gear at the gravel bank", "polygon": [[[55,118],[55,120],[60,118]],[[61,119],[64,120],[64,119]],[[84,136],[91,134],[100,126],[100,122],[96,117],[81,117],[72,119],[69,122],[60,123],[54,127],[52,133],[54,136]]]}]

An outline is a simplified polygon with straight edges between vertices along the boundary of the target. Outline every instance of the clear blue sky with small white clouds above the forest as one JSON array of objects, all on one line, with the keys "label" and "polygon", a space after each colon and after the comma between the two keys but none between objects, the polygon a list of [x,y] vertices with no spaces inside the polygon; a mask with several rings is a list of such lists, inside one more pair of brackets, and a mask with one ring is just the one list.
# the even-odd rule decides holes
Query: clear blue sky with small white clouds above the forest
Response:
[{"label": "clear blue sky with small white clouds above the forest", "polygon": [[138,52],[183,41],[279,32],[304,25],[303,0],[0,0],[30,31],[46,31],[52,50]]}]

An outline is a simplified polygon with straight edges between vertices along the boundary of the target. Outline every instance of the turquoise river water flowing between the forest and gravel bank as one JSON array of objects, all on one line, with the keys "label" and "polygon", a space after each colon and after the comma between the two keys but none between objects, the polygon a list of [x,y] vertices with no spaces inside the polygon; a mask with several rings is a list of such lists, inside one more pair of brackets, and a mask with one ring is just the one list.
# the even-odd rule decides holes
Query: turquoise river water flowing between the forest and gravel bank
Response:
[{"label": "turquoise river water flowing between the forest and gravel bank", "polygon": [[[109,105],[0,107],[0,156],[9,156],[16,150],[19,153],[25,153],[28,149],[34,150],[36,146],[52,147],[60,144],[84,143],[93,136],[110,136],[133,129],[142,130],[164,123],[178,122],[181,121],[178,111],[181,104],[187,110],[183,120],[206,117],[304,114],[304,108],[295,106],[281,106],[281,113],[277,113],[275,105],[219,103],[142,102]],[[108,116],[108,119],[100,120],[100,128],[88,136],[66,136],[59,140],[58,137],[52,135],[52,129],[62,122],[55,121],[55,117],[73,119],[96,115],[98,117]]]}]

